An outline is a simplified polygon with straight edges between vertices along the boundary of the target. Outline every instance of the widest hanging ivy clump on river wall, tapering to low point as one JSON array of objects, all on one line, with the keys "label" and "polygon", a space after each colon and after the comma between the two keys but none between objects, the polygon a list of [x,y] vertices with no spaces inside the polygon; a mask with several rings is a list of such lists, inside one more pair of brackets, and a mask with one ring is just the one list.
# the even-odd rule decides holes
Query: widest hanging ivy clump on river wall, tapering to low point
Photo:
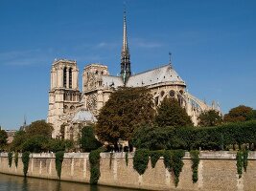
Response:
[{"label": "widest hanging ivy clump on river wall, tapering to low point", "polygon": [[179,175],[184,165],[182,161],[184,155],[183,150],[167,150],[164,152],[164,164],[169,172],[174,174],[175,186],[178,184]]}]

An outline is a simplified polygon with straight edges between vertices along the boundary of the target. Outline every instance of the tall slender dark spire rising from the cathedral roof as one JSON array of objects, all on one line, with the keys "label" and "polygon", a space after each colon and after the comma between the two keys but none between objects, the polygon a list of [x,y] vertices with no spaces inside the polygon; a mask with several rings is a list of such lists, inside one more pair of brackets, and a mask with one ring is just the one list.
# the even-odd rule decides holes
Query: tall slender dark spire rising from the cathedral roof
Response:
[{"label": "tall slender dark spire rising from the cathedral roof", "polygon": [[127,83],[130,74],[131,72],[128,52],[127,11],[125,8],[123,23],[123,47],[121,52],[121,76],[125,84]]}]

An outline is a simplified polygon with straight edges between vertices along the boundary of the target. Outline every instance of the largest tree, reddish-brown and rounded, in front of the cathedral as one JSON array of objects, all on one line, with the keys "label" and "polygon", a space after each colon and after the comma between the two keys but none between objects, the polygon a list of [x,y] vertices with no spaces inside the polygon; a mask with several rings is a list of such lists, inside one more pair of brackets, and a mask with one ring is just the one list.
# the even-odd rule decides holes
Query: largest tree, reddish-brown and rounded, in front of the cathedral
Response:
[{"label": "largest tree, reddish-brown and rounded, in front of the cathedral", "polygon": [[96,135],[114,144],[119,138],[129,140],[136,127],[153,121],[154,113],[148,89],[119,88],[100,111]]}]

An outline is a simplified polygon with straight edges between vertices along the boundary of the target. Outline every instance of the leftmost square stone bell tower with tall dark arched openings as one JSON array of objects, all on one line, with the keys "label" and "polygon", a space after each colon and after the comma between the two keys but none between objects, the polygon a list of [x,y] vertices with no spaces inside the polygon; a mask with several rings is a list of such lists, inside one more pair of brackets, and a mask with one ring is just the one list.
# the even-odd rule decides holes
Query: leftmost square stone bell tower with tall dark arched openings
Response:
[{"label": "leftmost square stone bell tower with tall dark arched openings", "polygon": [[52,137],[58,138],[64,118],[75,112],[81,100],[79,69],[76,61],[55,60],[51,70],[47,122],[54,125]]}]

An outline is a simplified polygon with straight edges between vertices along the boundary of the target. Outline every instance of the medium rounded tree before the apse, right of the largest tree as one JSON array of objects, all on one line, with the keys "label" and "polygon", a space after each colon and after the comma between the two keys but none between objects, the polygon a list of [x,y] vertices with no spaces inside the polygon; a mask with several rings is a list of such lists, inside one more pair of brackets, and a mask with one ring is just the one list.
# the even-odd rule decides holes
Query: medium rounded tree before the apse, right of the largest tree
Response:
[{"label": "medium rounded tree before the apse, right of the largest tree", "polygon": [[159,127],[173,126],[193,126],[191,118],[188,116],[184,108],[182,108],[175,98],[167,98],[157,107],[157,115],[155,123]]}]

